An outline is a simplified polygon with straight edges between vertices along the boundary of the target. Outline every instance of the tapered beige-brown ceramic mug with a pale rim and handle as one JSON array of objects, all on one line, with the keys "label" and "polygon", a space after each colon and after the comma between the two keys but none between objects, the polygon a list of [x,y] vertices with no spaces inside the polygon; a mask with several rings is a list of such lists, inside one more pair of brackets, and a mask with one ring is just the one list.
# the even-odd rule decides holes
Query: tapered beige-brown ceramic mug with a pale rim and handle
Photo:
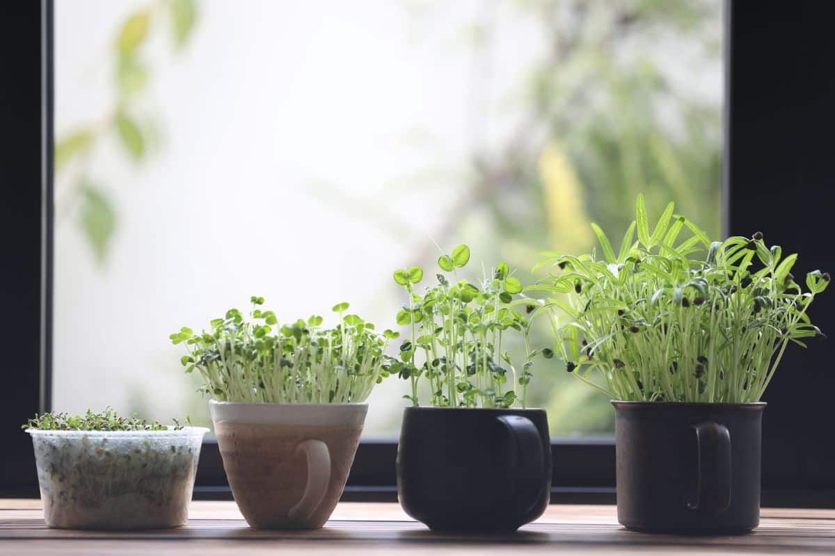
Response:
[{"label": "tapered beige-brown ceramic mug with a pale rim and handle", "polygon": [[367,403],[209,403],[235,502],[254,528],[320,528],[357,453]]}]

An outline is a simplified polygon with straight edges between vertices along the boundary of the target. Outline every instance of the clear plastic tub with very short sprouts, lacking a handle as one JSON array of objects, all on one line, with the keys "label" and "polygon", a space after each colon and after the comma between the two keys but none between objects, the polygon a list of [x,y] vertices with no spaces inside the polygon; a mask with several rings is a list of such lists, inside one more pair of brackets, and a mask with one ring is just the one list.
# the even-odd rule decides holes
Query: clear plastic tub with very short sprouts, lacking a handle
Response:
[{"label": "clear plastic tub with very short sprouts, lacking a handle", "polygon": [[208,428],[58,431],[28,428],[48,527],[154,529],[188,518]]}]

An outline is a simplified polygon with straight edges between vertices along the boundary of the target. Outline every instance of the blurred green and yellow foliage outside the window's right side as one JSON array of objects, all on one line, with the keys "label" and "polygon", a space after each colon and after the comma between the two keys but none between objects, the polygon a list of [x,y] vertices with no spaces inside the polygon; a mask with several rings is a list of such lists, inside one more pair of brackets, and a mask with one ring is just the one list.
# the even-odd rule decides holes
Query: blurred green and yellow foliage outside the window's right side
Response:
[{"label": "blurred green and yellow foliage outside the window's right side", "polygon": [[[519,84],[514,133],[498,148],[473,152],[476,177],[455,192],[462,210],[450,212],[438,240],[467,241],[485,260],[532,268],[539,251],[593,248],[591,222],[625,229],[638,193],[650,214],[675,200],[717,236],[721,100],[694,90],[701,70],[721,72],[720,0],[493,4],[509,5],[536,23],[544,51]],[[473,48],[489,57],[495,13],[474,25]],[[682,78],[675,70],[685,63],[694,67]],[[427,259],[432,253],[428,245]],[[553,341],[547,322],[534,328],[534,344]],[[609,400],[551,361],[534,367],[529,394],[530,405],[549,410],[551,433],[612,431]]]}]

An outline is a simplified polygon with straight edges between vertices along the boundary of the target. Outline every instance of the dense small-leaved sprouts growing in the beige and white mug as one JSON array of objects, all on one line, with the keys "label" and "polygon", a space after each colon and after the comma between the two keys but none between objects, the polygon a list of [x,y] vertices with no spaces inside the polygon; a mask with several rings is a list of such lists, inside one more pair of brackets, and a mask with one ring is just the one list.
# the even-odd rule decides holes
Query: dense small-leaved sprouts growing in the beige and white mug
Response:
[{"label": "dense small-leaved sprouts growing in the beige and white mug", "polygon": [[323,318],[280,324],[276,314],[261,309],[264,298],[251,298],[245,319],[238,309],[215,318],[210,330],[180,328],[170,335],[188,349],[180,362],[205,380],[200,391],[219,401],[252,403],[363,402],[374,384],[389,375],[394,359],[385,353],[399,333],[374,331],[374,325],[346,314],[337,303],[335,328],[321,328]]}]

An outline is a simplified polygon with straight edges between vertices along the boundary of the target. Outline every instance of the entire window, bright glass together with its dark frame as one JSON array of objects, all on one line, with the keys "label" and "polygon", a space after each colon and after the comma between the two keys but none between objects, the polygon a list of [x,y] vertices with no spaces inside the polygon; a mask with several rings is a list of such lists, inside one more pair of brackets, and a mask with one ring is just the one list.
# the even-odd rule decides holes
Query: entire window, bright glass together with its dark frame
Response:
[{"label": "entire window, bright glass together with its dark frame", "polygon": [[[164,16],[151,13],[163,23],[149,23],[141,58],[125,61],[124,53],[114,53],[114,33],[126,18],[141,15],[143,3],[59,4],[56,138],[61,144],[82,132],[83,146],[90,125],[107,131],[95,148],[76,147],[65,161],[58,157],[54,218],[51,157],[44,156],[43,194],[10,192],[23,207],[45,203],[46,243],[42,250],[37,211],[3,219],[7,233],[26,238],[20,245],[28,247],[10,251],[20,274],[3,278],[3,289],[13,293],[6,307],[22,315],[18,326],[29,327],[13,363],[31,370],[13,378],[15,397],[3,426],[33,413],[38,389],[46,392],[40,407],[52,399],[55,407],[82,410],[107,399],[170,418],[190,400],[195,410],[187,411],[200,418],[205,403],[191,392],[195,385],[176,365],[179,353],[166,343],[181,324],[205,322],[252,293],[286,318],[324,313],[328,303],[344,299],[386,323],[393,320],[386,308],[397,307],[390,270],[414,262],[429,268],[436,258],[431,239],[466,241],[486,264],[507,258],[527,273],[539,249],[589,246],[582,234],[590,220],[623,228],[622,208],[640,183],[651,203],[674,198],[714,235],[726,211],[731,232],[761,228],[810,253],[809,268],[835,267],[831,249],[816,236],[823,237],[827,222],[823,203],[796,211],[783,210],[782,203],[790,192],[813,195],[831,185],[821,150],[826,142],[819,139],[832,122],[826,100],[832,83],[816,78],[825,67],[822,53],[831,50],[821,32],[826,18],[811,8],[792,10],[782,32],[793,40],[778,48],[768,29],[784,22],[783,8],[736,3],[723,17],[716,2],[640,5],[650,11],[619,15],[597,3],[559,3],[570,7],[561,8],[564,13],[534,3],[457,4],[453,11],[443,4],[385,3],[358,4],[351,13],[322,4],[272,14],[267,10],[279,8],[271,3],[205,2],[181,48],[171,48],[170,33],[176,43],[189,19],[178,16],[185,17],[178,35]],[[45,2],[16,20],[3,18],[17,22],[10,38],[29,33],[28,47],[17,48],[21,60],[40,62],[42,43],[30,35],[41,37],[43,16],[49,47],[51,15]],[[730,30],[724,118],[730,159],[720,203],[722,19]],[[605,39],[595,34],[607,32]],[[593,39],[600,41],[597,49],[579,53]],[[128,48],[136,38],[125,40]],[[568,59],[559,58],[571,48]],[[46,61],[46,81],[22,64],[20,90],[29,94],[3,104],[43,114],[49,130],[51,106],[32,103],[42,87],[49,92]],[[791,68],[786,71],[794,78],[773,83],[768,76],[775,67]],[[291,78],[282,78],[285,73]],[[81,90],[87,93],[74,94]],[[120,103],[119,95],[129,103]],[[33,133],[34,119],[9,121]],[[19,178],[31,183],[41,171],[33,149],[41,153],[41,145],[24,141],[31,137],[26,134],[16,137],[21,140],[8,152],[21,156],[10,159]],[[51,152],[49,133],[41,139],[43,153]],[[63,192],[73,192],[66,214]],[[53,224],[54,257],[48,241]],[[337,248],[326,233],[331,226],[341,232]],[[205,249],[240,228],[251,230],[256,247],[287,251],[265,254],[243,242],[220,253]],[[32,257],[35,250],[45,255],[43,264]],[[316,266],[311,253],[326,253],[326,262]],[[305,263],[288,268],[283,262],[290,255]],[[247,263],[252,260],[257,263]],[[43,298],[33,290],[42,271],[49,282],[50,261],[54,311],[50,289]],[[290,285],[274,276],[289,277]],[[318,305],[296,301],[304,297]],[[827,303],[822,299],[817,309],[823,328],[832,314]],[[43,308],[43,317],[33,307]],[[27,343],[35,335],[38,345]],[[824,373],[831,349],[792,353],[767,393],[766,501],[814,503],[823,498],[814,498],[813,490],[835,487],[822,468],[831,448],[815,440],[821,421],[810,424],[827,388],[809,388],[788,368],[811,368],[815,383],[825,387],[833,380]],[[33,371],[39,353],[44,368],[50,355],[54,362],[51,375],[41,378]],[[539,366],[542,398],[535,403],[552,408],[554,433],[579,434],[554,445],[554,485],[561,500],[572,493],[606,499],[614,450],[610,438],[588,434],[611,430],[610,409],[566,378],[557,365]],[[397,387],[392,379],[371,400],[379,407],[369,416],[352,473],[357,487],[391,491]],[[93,391],[93,398],[84,398]],[[14,438],[13,430],[3,430]],[[29,458],[27,443],[20,446],[21,457]],[[214,457],[201,463],[203,486],[222,483]],[[32,474],[25,462],[4,465],[12,470],[4,477]],[[365,492],[373,496],[373,489]],[[589,498],[595,493],[602,498]]]}]

